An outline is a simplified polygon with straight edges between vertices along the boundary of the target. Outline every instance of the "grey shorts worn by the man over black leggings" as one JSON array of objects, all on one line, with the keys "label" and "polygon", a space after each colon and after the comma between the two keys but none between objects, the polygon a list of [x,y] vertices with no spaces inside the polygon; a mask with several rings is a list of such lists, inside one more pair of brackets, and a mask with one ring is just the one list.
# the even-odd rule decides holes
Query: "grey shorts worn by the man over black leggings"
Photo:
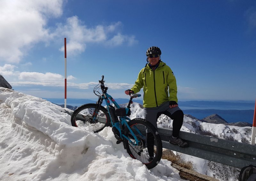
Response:
[{"label": "grey shorts worn by the man over black leggings", "polygon": [[[157,113],[158,112],[168,111],[171,114],[173,114],[175,111],[178,111],[178,110],[180,110],[179,106],[170,108],[169,107],[169,101],[167,101],[167,102],[164,102],[163,104],[161,104],[158,107],[144,107],[144,117],[151,124],[153,124],[154,127],[157,129],[157,125],[156,125],[157,120],[156,120],[156,118],[157,118]],[[148,131],[147,131],[147,133],[148,133]]]}]

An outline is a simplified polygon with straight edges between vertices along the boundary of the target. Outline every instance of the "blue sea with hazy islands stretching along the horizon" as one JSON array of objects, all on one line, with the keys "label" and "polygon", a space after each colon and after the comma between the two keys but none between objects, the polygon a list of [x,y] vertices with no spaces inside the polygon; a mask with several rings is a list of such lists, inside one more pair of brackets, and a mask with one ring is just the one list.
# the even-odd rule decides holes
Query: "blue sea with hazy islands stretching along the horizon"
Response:
[{"label": "blue sea with hazy islands stretching along the horizon", "polygon": [[[63,98],[44,98],[52,103],[62,105],[64,104]],[[80,106],[88,103],[96,103],[96,99],[74,99],[68,98],[67,104],[72,106]],[[129,99],[125,98],[116,98],[115,101],[121,105],[129,102]],[[133,102],[137,102],[140,105],[143,105],[143,101],[139,98],[134,98]],[[102,103],[105,106],[105,101]],[[253,120],[253,107],[254,103],[248,102],[221,102],[221,101],[179,101],[179,106],[184,112],[184,114],[193,115],[197,119],[203,119],[212,114],[218,114],[228,123],[233,122],[248,122],[252,124]],[[219,107],[220,109],[208,109],[212,107]],[[187,109],[187,108],[196,108],[196,109]],[[245,109],[248,108],[250,110],[237,110],[236,108]],[[223,123],[222,123],[223,124]],[[227,124],[227,123],[225,123]]]}]

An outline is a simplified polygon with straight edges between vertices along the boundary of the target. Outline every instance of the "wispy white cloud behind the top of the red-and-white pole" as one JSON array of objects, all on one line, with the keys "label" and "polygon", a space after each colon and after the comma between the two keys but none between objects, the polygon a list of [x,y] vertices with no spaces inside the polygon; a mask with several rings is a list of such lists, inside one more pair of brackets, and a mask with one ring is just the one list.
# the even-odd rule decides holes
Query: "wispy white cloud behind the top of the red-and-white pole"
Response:
[{"label": "wispy white cloud behind the top of the red-and-white pole", "polygon": [[[67,53],[74,55],[84,52],[87,43],[101,43],[107,46],[136,43],[135,36],[130,37],[119,32],[121,26],[119,21],[109,26],[97,25],[88,28],[77,16],[73,16],[67,19],[65,25],[59,24],[54,34],[67,37]],[[64,46],[60,51],[64,51]]]}]

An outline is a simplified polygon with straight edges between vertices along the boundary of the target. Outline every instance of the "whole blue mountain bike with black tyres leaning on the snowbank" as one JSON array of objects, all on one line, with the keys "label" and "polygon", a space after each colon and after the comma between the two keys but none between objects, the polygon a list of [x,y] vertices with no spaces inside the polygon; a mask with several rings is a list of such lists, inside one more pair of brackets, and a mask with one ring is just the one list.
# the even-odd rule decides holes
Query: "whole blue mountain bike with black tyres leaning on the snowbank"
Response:
[{"label": "whole blue mountain bike with black tyres leaning on the snowbank", "polygon": [[[117,139],[116,143],[123,142],[128,154],[145,164],[148,169],[154,168],[162,157],[162,141],[156,128],[147,120],[141,118],[130,119],[132,99],[140,94],[130,94],[127,107],[121,108],[107,93],[108,87],[104,85],[104,76],[93,92],[99,97],[96,104],[84,104],[78,107],[71,116],[74,127],[90,126],[94,133],[112,126],[112,131]],[[99,91],[102,91],[100,93]],[[106,105],[101,104],[105,100]],[[113,105],[110,104],[110,101]],[[119,118],[119,119],[118,119]],[[110,125],[111,123],[111,125]]]}]

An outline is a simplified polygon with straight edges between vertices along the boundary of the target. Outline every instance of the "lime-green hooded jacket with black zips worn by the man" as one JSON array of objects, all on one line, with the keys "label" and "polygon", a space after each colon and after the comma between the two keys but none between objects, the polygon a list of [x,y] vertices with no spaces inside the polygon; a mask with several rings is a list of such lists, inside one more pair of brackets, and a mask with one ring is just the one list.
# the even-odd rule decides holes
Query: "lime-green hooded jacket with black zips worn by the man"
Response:
[{"label": "lime-green hooded jacket with black zips worn by the man", "polygon": [[148,64],[140,70],[131,90],[137,93],[142,87],[144,107],[158,107],[166,101],[178,102],[175,76],[172,69],[162,61],[155,70],[152,70]]}]

